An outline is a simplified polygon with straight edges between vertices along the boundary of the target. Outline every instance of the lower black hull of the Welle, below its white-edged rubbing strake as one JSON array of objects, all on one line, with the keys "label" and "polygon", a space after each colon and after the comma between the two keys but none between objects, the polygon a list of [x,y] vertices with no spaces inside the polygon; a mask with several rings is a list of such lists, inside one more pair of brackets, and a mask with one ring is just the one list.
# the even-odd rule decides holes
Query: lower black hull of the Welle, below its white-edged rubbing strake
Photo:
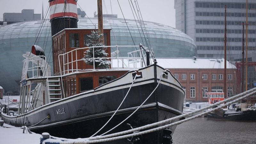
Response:
[{"label": "lower black hull of the Welle, below its white-edged rubbing strake", "polygon": [[[157,114],[158,113],[158,114]],[[111,123],[107,124],[106,127],[99,132],[97,135],[100,135],[104,132],[107,132],[120,122],[122,122],[126,117],[128,117],[131,113],[122,113],[114,116],[114,118],[111,120]],[[159,115],[160,117],[157,117]],[[128,125],[130,124],[134,128],[136,126],[143,126],[145,124],[152,124],[154,122],[157,122],[159,118],[164,116],[165,118],[171,118],[174,116],[177,116],[175,114],[171,114],[170,112],[167,112],[165,110],[159,110],[159,108],[152,108],[152,109],[145,109],[136,112],[135,115],[130,117],[127,121],[125,121],[124,124],[121,124],[118,126],[116,129],[111,131],[110,133],[113,132],[121,132],[125,130],[131,129],[131,127]],[[46,129],[40,129],[40,130],[32,130],[32,132],[36,133],[42,133],[42,132],[49,132],[53,136],[57,137],[64,137],[64,138],[84,138],[84,137],[90,137],[92,136],[95,132],[97,132],[101,126],[103,126],[110,116],[105,116],[105,117],[99,117],[95,119],[88,119],[84,121],[79,121],[79,122],[74,122],[74,123],[69,123],[69,124],[63,124],[63,125],[58,125],[58,126],[52,126]],[[136,126],[135,126],[136,125]],[[77,129],[74,129],[74,127],[77,127]],[[174,131],[176,128],[176,125],[169,127],[168,129],[171,129]],[[67,130],[69,132],[67,132]],[[109,134],[109,133],[108,133]],[[131,139],[131,138],[129,138]],[[144,134],[140,136],[140,139],[142,143],[145,144],[161,144],[163,141],[163,130],[158,131],[158,132],[151,132],[148,134]],[[130,144],[130,141],[127,139],[121,139],[121,140],[116,140],[116,141],[111,141],[111,142],[104,142],[105,143],[111,143],[111,144]]]}]

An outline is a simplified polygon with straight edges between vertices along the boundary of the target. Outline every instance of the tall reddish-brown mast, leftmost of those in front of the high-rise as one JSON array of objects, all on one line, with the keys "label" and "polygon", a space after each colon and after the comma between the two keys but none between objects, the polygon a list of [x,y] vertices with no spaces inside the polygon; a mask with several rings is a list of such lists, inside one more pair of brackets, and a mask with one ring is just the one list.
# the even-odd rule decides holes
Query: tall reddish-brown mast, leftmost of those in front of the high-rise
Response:
[{"label": "tall reddish-brown mast, leftmost of those in front of the high-rise", "polygon": [[225,4],[225,34],[224,34],[224,98],[226,98],[226,70],[227,70],[227,5]]}]

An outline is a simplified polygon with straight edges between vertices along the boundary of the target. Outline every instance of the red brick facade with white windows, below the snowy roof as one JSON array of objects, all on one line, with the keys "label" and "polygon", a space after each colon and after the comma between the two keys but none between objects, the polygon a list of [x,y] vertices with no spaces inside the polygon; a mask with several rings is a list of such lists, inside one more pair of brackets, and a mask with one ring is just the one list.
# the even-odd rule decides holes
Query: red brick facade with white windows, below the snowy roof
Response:
[{"label": "red brick facade with white windows, below the snowy roof", "polygon": [[[207,87],[208,92],[224,91],[224,69],[167,69],[171,70],[172,75],[178,75],[178,80],[186,91],[187,101],[208,101],[207,95],[203,95],[202,87]],[[236,69],[227,69],[226,79],[225,97],[233,96],[237,91]]]}]

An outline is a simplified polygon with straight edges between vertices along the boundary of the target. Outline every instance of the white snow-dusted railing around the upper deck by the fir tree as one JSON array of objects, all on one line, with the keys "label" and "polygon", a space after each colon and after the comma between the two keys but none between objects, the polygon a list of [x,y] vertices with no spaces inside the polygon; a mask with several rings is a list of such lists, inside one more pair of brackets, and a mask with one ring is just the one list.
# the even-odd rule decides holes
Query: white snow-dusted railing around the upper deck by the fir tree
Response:
[{"label": "white snow-dusted railing around the upper deck by the fir tree", "polygon": [[115,55],[114,57],[105,57],[105,58],[91,58],[86,60],[93,60],[93,65],[89,66],[84,62],[84,52],[89,48],[92,48],[93,51],[95,48],[99,48],[102,46],[94,46],[94,47],[84,47],[77,48],[72,51],[66,52],[64,54],[59,54],[59,67],[61,74],[68,74],[78,71],[87,71],[87,70],[95,70],[95,61],[100,59],[108,59],[111,61],[110,69],[132,69],[132,68],[142,68],[144,66],[145,60],[142,59],[142,56],[145,54],[140,50],[136,50],[133,52],[128,52],[127,57],[119,57],[119,50],[126,49],[127,47],[133,48],[136,47],[134,45],[128,46],[104,46],[104,49],[110,48],[116,50],[112,52],[111,55]]}]

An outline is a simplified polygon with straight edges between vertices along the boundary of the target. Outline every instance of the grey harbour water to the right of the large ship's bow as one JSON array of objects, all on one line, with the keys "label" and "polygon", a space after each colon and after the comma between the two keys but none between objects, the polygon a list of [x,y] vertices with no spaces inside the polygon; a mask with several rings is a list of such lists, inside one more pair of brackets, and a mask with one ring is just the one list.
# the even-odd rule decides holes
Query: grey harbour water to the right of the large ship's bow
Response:
[{"label": "grey harbour water to the right of the large ship's bow", "polygon": [[211,120],[199,117],[179,124],[173,144],[255,144],[256,122]]}]

